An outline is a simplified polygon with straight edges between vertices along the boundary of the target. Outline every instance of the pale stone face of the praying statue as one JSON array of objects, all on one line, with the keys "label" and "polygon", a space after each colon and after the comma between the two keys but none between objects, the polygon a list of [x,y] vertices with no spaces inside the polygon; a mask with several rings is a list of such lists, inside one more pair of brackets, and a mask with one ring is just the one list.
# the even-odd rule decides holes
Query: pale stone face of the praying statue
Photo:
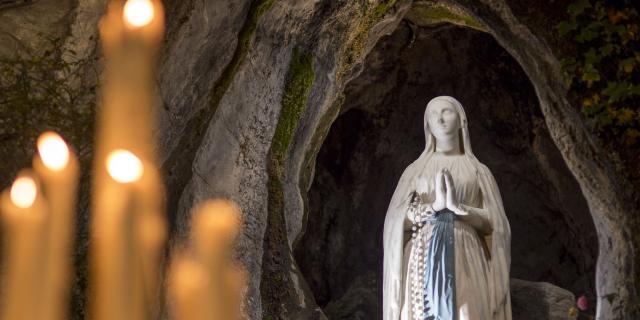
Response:
[{"label": "pale stone face of the praying statue", "polygon": [[458,134],[460,116],[456,107],[448,101],[436,100],[427,110],[427,123],[436,139],[450,139]]}]

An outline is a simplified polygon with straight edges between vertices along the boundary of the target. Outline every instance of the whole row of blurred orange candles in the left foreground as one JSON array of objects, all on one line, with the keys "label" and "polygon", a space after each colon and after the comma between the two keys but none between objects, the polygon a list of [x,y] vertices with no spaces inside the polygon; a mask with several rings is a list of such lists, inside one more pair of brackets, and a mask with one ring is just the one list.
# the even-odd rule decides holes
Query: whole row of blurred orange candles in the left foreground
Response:
[{"label": "whole row of blurred orange candles in the left foreground", "polygon": [[[100,23],[105,55],[92,185],[91,318],[153,319],[167,297],[177,319],[235,319],[244,274],[232,260],[240,228],[233,203],[196,206],[190,243],[163,260],[164,188],[154,154],[154,57],[162,40],[157,0],[114,0]],[[37,141],[33,169],[0,199],[0,319],[66,319],[78,160],[55,132]]]}]

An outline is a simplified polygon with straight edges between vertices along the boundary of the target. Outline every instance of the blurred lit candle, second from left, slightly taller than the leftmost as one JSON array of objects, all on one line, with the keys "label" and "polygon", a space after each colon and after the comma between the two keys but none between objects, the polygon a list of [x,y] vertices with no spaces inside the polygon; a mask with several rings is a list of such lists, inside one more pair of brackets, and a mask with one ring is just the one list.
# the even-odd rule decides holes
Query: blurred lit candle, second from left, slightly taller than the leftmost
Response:
[{"label": "blurred lit candle, second from left, slightly taller than the leftmost", "polygon": [[43,314],[47,319],[67,319],[79,165],[69,146],[55,132],[40,135],[37,148],[33,167],[49,204],[49,214],[44,217]]}]

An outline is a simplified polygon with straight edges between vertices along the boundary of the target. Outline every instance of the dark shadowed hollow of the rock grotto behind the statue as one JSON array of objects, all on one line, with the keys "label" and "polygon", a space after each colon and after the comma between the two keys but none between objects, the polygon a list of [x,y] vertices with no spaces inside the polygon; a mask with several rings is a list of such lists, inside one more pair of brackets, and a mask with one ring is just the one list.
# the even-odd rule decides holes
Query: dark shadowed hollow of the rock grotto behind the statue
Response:
[{"label": "dark shadowed hollow of the rock grotto behind the statue", "polygon": [[511,277],[595,292],[598,245],[586,201],[529,79],[490,35],[403,22],[363,70],[318,154],[295,247],[330,319],[381,314],[384,216],[400,174],[424,148],[424,107],[437,95],[462,102],[474,152],[498,181],[513,235]]}]

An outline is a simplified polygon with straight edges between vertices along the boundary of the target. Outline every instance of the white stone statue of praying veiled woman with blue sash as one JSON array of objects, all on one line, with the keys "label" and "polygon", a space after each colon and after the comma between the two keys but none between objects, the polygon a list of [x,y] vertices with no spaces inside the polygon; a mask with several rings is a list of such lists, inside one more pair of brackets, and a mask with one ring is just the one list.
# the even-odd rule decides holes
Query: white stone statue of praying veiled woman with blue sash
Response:
[{"label": "white stone statue of praying veiled woman with blue sash", "polygon": [[383,319],[511,320],[511,230],[460,102],[432,99],[424,132],[385,218]]}]

